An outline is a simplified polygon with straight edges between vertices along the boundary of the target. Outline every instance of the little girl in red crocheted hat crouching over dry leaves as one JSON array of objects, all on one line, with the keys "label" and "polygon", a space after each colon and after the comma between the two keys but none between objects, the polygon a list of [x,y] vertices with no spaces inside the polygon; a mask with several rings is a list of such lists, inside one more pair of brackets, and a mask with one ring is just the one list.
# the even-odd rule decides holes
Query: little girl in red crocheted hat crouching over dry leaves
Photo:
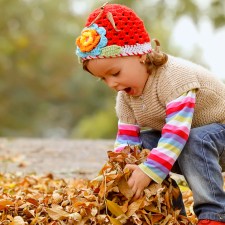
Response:
[{"label": "little girl in red crocheted hat crouching over dry leaves", "polygon": [[153,49],[130,8],[104,4],[89,15],[76,54],[85,70],[118,92],[115,151],[151,149],[144,163],[127,165],[134,198],[175,171],[193,192],[198,225],[225,224],[225,85],[155,43]]}]

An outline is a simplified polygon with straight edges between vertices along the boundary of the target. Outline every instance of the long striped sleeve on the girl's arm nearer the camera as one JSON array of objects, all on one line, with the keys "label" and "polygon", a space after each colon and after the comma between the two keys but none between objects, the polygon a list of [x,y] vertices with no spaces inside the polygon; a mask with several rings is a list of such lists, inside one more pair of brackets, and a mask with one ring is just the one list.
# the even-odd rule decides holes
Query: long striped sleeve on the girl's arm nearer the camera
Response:
[{"label": "long striped sleeve on the girl's arm nearer the camera", "polygon": [[184,93],[166,105],[166,124],[156,148],[139,167],[157,183],[169,174],[186,144],[195,107],[195,90]]}]

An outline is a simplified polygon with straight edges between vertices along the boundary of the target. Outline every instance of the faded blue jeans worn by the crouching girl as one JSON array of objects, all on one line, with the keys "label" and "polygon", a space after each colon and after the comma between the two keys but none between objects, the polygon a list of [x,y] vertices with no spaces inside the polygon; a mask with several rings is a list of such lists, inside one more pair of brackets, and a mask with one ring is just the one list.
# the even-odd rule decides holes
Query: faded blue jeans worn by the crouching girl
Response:
[{"label": "faded blue jeans worn by the crouching girl", "polygon": [[[157,146],[161,132],[141,132],[143,148]],[[198,219],[225,222],[225,124],[193,128],[189,139],[172,168],[182,174],[193,192],[194,212]]]}]

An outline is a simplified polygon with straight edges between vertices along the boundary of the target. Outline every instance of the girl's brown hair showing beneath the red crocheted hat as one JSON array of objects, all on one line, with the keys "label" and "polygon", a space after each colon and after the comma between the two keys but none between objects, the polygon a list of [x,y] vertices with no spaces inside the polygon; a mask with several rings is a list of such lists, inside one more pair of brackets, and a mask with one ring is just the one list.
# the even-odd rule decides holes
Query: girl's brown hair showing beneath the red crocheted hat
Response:
[{"label": "girl's brown hair showing beneath the red crocheted hat", "polygon": [[[168,55],[160,50],[160,42],[157,39],[154,39],[153,41],[155,42],[156,46],[150,53],[146,54],[145,60],[145,65],[149,75],[152,73],[153,69],[157,69],[158,67],[164,65],[168,60]],[[83,70],[91,73],[87,68],[88,62],[89,59],[83,61]]]}]

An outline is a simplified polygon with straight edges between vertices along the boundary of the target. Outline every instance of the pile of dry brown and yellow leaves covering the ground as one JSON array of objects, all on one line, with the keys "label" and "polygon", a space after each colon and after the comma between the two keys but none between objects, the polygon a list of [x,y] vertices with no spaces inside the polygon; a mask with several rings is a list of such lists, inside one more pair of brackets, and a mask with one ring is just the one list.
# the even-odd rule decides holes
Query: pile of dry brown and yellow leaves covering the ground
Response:
[{"label": "pile of dry brown and yellow leaves covering the ground", "polygon": [[192,196],[185,197],[188,217],[174,209],[179,190],[171,179],[162,185],[152,182],[144,196],[132,200],[127,180],[127,163],[139,164],[148,150],[130,148],[108,152],[109,160],[94,180],[54,179],[52,175],[0,176],[0,224],[2,225],[85,225],[195,224]]}]

